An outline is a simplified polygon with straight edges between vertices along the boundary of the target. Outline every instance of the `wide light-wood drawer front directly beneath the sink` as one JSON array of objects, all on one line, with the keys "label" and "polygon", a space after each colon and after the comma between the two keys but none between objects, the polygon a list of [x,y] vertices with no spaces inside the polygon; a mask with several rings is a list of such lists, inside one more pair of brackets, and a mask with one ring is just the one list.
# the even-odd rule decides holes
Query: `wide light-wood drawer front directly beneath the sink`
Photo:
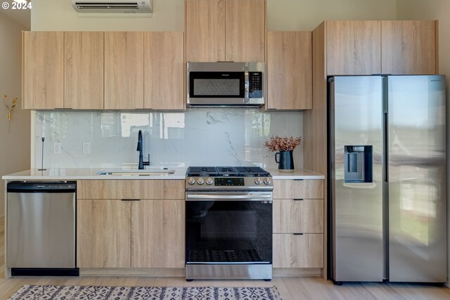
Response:
[{"label": "wide light-wood drawer front directly beneath the sink", "polygon": [[184,180],[77,181],[78,199],[184,199]]}]

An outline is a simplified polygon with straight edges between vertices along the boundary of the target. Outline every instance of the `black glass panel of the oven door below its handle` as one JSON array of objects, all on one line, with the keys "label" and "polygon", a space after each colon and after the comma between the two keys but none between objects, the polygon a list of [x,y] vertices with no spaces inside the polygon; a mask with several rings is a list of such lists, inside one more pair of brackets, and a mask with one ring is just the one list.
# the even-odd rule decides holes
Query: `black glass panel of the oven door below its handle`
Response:
[{"label": "black glass panel of the oven door below its handle", "polygon": [[271,263],[271,202],[186,202],[186,262]]}]

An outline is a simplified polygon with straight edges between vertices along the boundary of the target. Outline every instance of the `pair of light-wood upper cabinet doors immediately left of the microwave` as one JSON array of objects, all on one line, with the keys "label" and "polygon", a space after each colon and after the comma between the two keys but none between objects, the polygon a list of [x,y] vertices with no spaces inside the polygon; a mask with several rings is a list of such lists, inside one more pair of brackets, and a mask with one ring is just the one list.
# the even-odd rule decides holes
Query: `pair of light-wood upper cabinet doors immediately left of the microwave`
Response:
[{"label": "pair of light-wood upper cabinet doors immediately left of the microwave", "polygon": [[105,109],[184,110],[182,32],[105,32]]}]

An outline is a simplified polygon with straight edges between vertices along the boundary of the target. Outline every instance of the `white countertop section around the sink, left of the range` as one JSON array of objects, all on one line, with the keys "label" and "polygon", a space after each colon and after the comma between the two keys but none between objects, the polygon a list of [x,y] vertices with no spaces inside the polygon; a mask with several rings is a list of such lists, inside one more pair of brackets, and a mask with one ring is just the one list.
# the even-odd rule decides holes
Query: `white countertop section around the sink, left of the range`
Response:
[{"label": "white countertop section around the sink, left of the range", "polygon": [[[153,168],[152,168],[153,169]],[[156,169],[156,168],[155,168]],[[160,168],[158,168],[160,169]],[[8,174],[2,176],[2,179],[6,180],[82,180],[82,179],[183,179],[186,178],[186,168],[169,168],[174,170],[174,174],[167,175],[150,175],[139,176],[136,173],[131,175],[98,175],[99,171],[110,171],[117,169],[47,169],[46,171],[38,171],[38,169],[30,169],[26,171],[20,171],[18,173]],[[144,170],[145,171],[145,170]]]}]

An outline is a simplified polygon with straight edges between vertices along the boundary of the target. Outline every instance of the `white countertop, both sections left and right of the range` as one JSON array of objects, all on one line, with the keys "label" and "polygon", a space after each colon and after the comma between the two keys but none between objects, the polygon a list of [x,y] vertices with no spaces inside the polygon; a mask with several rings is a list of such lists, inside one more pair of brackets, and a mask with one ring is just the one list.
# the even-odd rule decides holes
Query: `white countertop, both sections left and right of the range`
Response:
[{"label": "white countertop, both sections left and right of the range", "polygon": [[[153,168],[152,168],[153,169]],[[155,168],[157,169],[157,168]],[[158,168],[160,169],[160,168]],[[139,176],[136,173],[130,175],[98,175],[99,171],[111,171],[117,169],[70,169],[70,168],[60,168],[60,169],[47,169],[46,171],[38,171],[37,169],[30,169],[25,171],[20,171],[18,173],[8,174],[2,176],[5,180],[84,180],[84,179],[147,179],[147,180],[158,180],[158,179],[183,179],[186,178],[186,168],[169,168],[174,170],[174,174],[167,175],[150,175],[150,176]],[[278,169],[266,169],[270,172],[274,180],[279,179],[324,179],[325,176],[307,169],[295,169],[293,173],[282,173]],[[145,171],[145,170],[144,170]]]}]

